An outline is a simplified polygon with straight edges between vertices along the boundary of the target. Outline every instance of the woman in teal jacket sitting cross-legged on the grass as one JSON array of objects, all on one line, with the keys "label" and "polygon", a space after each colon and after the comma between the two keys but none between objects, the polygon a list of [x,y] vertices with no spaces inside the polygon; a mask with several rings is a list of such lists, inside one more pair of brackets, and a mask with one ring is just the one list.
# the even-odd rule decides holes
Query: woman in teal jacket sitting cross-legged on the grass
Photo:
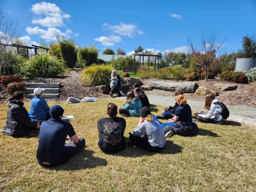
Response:
[{"label": "woman in teal jacket sitting cross-legged on the grass", "polygon": [[127,93],[127,104],[122,108],[119,108],[121,116],[140,116],[141,101],[140,98],[136,97],[133,92]]}]

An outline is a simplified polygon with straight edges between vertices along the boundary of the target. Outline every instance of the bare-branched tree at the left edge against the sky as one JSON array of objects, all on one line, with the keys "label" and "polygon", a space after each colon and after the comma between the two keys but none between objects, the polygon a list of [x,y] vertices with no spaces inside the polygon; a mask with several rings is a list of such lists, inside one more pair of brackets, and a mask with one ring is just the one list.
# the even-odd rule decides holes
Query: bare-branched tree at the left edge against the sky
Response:
[{"label": "bare-branched tree at the left edge against the sky", "polygon": [[[0,8],[0,44],[12,44],[20,35],[18,19],[11,18],[7,10]],[[11,47],[0,45],[0,75],[5,68],[10,68],[13,61]]]}]

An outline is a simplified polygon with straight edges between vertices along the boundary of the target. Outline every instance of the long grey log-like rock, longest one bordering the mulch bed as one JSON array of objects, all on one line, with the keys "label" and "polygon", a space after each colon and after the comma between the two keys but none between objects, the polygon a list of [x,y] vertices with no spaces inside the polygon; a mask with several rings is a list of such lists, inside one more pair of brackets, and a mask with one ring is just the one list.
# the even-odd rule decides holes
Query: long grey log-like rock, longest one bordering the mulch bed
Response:
[{"label": "long grey log-like rock, longest one bordering the mulch bed", "polygon": [[170,83],[164,81],[150,81],[150,86],[154,89],[162,89],[166,91],[175,91],[181,89],[184,93],[194,93],[196,83]]}]

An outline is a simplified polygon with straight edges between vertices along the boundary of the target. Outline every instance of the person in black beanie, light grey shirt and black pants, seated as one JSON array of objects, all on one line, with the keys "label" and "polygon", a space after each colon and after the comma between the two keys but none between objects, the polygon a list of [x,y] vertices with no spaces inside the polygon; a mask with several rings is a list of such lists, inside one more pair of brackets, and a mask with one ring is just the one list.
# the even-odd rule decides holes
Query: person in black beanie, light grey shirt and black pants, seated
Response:
[{"label": "person in black beanie, light grey shirt and black pants, seated", "polygon": [[133,133],[129,133],[129,139],[140,148],[150,152],[159,152],[165,148],[164,130],[159,121],[153,119],[150,114],[148,107],[141,108],[139,124]]}]

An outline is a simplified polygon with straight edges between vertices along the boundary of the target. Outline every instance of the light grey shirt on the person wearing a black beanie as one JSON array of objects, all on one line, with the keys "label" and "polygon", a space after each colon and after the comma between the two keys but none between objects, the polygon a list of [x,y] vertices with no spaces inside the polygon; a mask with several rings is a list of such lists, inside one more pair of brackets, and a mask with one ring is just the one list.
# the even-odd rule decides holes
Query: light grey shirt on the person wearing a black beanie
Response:
[{"label": "light grey shirt on the person wearing a black beanie", "polygon": [[138,124],[133,131],[133,136],[140,136],[145,134],[148,142],[153,147],[164,147],[165,135],[161,124],[154,119],[152,123],[145,121],[142,124]]}]

